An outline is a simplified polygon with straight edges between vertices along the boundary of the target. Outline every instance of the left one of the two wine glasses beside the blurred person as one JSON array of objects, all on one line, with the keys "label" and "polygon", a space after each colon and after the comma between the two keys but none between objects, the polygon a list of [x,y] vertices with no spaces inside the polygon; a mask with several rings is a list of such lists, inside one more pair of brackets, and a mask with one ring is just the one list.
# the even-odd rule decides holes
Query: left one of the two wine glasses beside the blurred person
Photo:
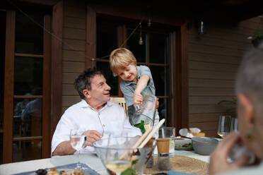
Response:
[{"label": "left one of the two wine glasses beside the blurred person", "polygon": [[217,134],[221,138],[223,138],[228,133],[230,133],[230,129],[231,129],[231,116],[219,116]]}]

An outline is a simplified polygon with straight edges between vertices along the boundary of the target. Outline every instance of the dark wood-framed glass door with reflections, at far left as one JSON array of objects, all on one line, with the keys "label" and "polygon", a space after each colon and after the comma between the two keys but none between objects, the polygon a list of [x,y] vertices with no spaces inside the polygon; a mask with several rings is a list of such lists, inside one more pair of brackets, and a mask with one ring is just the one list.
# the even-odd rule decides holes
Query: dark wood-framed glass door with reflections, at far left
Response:
[{"label": "dark wood-framed glass door with reflections, at far left", "polygon": [[[28,18],[30,16],[30,18]],[[50,155],[50,16],[8,11],[4,81],[4,162]],[[10,127],[11,126],[11,127]],[[45,128],[45,129],[44,129]]]}]

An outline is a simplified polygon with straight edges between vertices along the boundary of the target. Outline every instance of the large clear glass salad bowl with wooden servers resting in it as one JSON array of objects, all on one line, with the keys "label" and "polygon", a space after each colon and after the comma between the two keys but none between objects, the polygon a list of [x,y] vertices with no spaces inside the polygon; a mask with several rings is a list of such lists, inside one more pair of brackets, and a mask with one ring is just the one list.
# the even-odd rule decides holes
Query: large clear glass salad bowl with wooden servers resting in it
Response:
[{"label": "large clear glass salad bowl with wooden servers resting in it", "polygon": [[93,143],[95,152],[103,162],[108,174],[122,174],[124,171],[136,171],[143,174],[144,168],[151,157],[156,140],[142,148],[133,148],[140,137],[103,138]]}]

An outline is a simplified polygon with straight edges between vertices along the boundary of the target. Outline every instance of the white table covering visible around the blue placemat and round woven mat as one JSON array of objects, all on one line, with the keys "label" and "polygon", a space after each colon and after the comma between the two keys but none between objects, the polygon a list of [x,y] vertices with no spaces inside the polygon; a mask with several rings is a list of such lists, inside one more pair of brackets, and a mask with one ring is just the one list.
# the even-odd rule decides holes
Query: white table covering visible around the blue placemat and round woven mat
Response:
[{"label": "white table covering visible around the blue placemat and round woven mat", "polygon": [[[209,162],[209,156],[197,155],[194,151],[178,151],[175,150],[175,155],[182,155],[200,159],[204,162]],[[80,155],[80,162],[88,164],[91,169],[94,169],[99,174],[107,174],[107,171],[100,162],[100,159],[94,154]],[[25,162],[17,162],[11,164],[1,164],[0,174],[18,174],[26,171],[36,171],[37,169],[45,169],[58,167],[65,164],[74,164],[78,161],[76,155],[56,156],[48,159],[36,159]]]}]

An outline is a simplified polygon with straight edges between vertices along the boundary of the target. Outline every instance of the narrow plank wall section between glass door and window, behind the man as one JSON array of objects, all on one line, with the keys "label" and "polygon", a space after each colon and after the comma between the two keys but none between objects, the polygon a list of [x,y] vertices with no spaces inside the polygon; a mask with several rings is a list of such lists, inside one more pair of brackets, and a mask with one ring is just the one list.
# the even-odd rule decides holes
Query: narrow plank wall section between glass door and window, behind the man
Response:
[{"label": "narrow plank wall section between glass door and window, behind the man", "polygon": [[85,2],[64,0],[63,40],[62,113],[81,100],[74,89],[74,80],[85,69]]}]

